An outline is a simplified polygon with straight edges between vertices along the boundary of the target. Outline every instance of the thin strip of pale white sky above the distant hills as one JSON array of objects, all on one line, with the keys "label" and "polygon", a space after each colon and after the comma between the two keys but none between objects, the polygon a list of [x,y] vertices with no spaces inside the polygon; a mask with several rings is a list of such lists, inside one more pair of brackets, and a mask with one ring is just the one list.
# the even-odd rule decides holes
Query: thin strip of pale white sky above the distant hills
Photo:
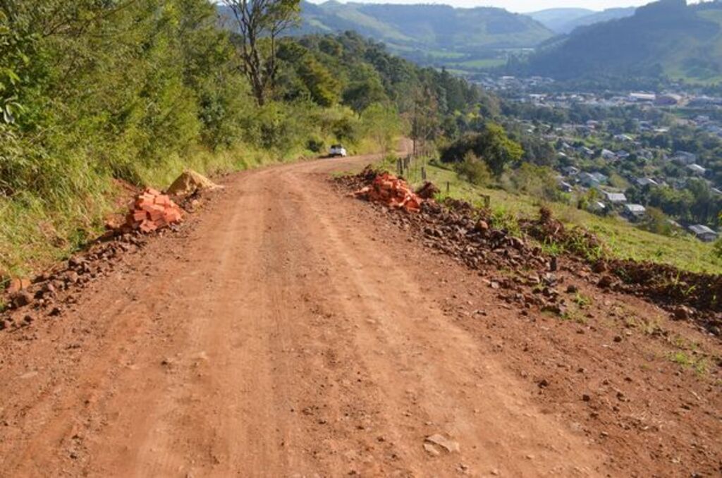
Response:
[{"label": "thin strip of pale white sky above the distant hills", "polygon": [[[323,3],[323,0],[310,0],[315,4]],[[341,0],[344,3],[347,0]],[[369,0],[352,0],[363,1]],[[615,6],[640,6],[650,3],[652,0],[372,0],[373,3],[386,4],[448,4],[453,6],[499,6],[510,12],[536,12],[548,8],[561,6],[573,6],[591,10],[604,10]],[[692,3],[690,1],[690,3]]]}]

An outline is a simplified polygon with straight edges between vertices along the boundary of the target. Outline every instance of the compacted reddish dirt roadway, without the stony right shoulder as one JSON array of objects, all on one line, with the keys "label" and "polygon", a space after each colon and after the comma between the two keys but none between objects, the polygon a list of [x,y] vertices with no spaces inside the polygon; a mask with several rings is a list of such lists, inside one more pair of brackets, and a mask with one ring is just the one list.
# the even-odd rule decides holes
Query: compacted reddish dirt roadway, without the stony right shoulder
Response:
[{"label": "compacted reddish dirt roadway, without the stony right shoulder", "polygon": [[443,310],[445,264],[423,259],[424,281],[419,258],[394,261],[320,174],[364,163],[231,176],[188,233],[1,336],[0,474],[606,474],[604,451]]}]

